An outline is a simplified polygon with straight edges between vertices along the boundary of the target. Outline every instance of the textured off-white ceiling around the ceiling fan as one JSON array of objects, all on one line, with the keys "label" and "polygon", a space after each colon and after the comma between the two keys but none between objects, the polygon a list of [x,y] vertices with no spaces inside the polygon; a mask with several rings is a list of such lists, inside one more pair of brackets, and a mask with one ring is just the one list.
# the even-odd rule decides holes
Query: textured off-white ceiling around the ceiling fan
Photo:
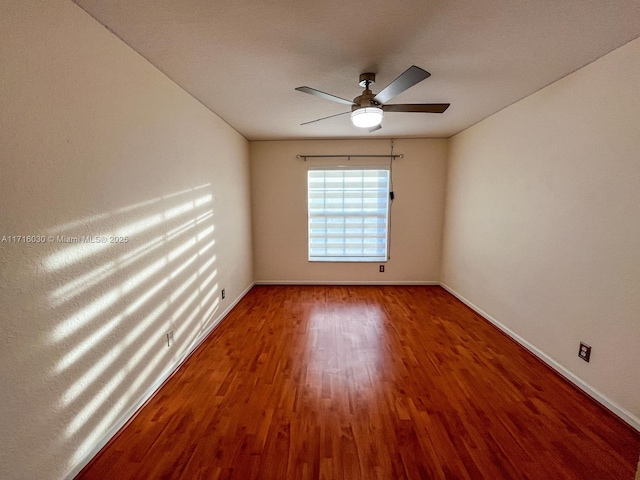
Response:
[{"label": "textured off-white ceiling around the ceiling fan", "polygon": [[[640,36],[638,0],[75,2],[249,140],[449,137]],[[349,107],[295,87],[353,99],[411,65],[432,76],[390,103],[444,114],[300,125]]]}]

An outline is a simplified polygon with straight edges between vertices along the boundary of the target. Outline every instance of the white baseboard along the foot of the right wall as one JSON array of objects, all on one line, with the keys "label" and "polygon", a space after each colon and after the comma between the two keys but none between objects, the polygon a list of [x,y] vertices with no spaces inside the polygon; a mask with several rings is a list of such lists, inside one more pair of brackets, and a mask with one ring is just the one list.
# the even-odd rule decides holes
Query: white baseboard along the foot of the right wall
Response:
[{"label": "white baseboard along the foot of the right wall", "polygon": [[440,283],[440,285],[442,286],[442,288],[444,288],[446,291],[451,293],[454,297],[456,297],[462,303],[467,305],[469,308],[474,310],[476,313],[480,314],[487,321],[491,322],[493,325],[498,327],[502,332],[504,332],[509,337],[511,337],[513,340],[515,340],[517,343],[519,343],[524,348],[529,350],[536,357],[538,357],[544,363],[549,365],[556,372],[558,372],[560,375],[562,375],[564,378],[566,378],[571,383],[573,383],[576,387],[578,387],[580,390],[582,390],[584,393],[589,395],[591,398],[596,400],[602,406],[604,406],[605,408],[610,410],[612,413],[614,413],[616,416],[618,416],[625,423],[629,424],[635,430],[640,432],[640,418],[636,417],[631,412],[629,412],[628,410],[622,408],[620,405],[618,405],[617,403],[615,403],[614,401],[609,399],[606,395],[602,394],[601,392],[599,392],[598,390],[593,388],[591,385],[589,385],[587,382],[585,382],[580,377],[575,375],[573,372],[571,372],[570,370],[568,370],[567,368],[565,368],[564,366],[562,366],[561,364],[556,362],[553,358],[549,357],[542,350],[540,350],[539,348],[537,348],[533,344],[529,343],[527,340],[522,338],[520,335],[518,335],[517,333],[515,333],[514,331],[512,331],[511,329],[509,329],[508,327],[506,327],[502,323],[500,323],[494,317],[489,315],[487,312],[482,310],[480,307],[475,305],[473,302],[469,301],[468,299],[466,299],[465,297],[460,295],[453,288],[449,287],[448,285],[446,285],[444,283]]}]

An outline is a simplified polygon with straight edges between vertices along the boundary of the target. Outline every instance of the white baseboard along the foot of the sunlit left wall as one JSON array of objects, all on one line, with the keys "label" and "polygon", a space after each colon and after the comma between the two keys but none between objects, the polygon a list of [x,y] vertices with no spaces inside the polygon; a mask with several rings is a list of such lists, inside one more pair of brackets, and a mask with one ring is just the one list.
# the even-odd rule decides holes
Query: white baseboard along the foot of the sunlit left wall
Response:
[{"label": "white baseboard along the foot of the sunlit left wall", "polygon": [[[71,468],[67,470],[62,478],[65,480],[72,480],[73,478],[80,473],[80,471],[91,461],[93,457],[95,457],[100,450],[111,440],[120,429],[133,417],[133,415],[142,407],[153,395],[158,391],[158,389],[167,381],[173,373],[182,366],[184,361],[196,351],[196,349],[206,340],[206,338],[213,332],[213,330],[220,324],[220,322],[227,316],[227,314],[235,307],[244,296],[249,293],[249,290],[253,288],[253,283],[251,283],[222,313],[220,313],[213,321],[211,321],[211,325],[204,331],[198,338],[196,338],[191,345],[189,345],[184,353],[173,362],[163,373],[158,377],[158,379],[149,387],[149,389],[144,392],[140,398],[136,402],[134,402],[130,408],[128,408],[125,412],[123,412],[116,421],[114,421],[113,425],[109,430],[105,432],[100,441],[98,441],[91,450],[86,452],[78,462],[73,465]],[[215,315],[215,313],[213,314]]]}]

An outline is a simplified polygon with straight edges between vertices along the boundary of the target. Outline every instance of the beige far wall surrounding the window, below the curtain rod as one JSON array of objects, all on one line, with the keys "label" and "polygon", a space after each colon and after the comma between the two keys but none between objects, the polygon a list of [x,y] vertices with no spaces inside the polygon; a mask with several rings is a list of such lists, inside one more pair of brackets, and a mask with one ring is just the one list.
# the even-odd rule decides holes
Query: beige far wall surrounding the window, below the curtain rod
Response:
[{"label": "beige far wall surrounding the window, below the curtain rod", "polygon": [[389,159],[308,159],[297,154],[390,153],[389,140],[251,142],[256,282],[438,282],[446,174],[446,140],[396,140],[391,252],[377,263],[307,261],[307,169],[317,165],[389,165]]}]

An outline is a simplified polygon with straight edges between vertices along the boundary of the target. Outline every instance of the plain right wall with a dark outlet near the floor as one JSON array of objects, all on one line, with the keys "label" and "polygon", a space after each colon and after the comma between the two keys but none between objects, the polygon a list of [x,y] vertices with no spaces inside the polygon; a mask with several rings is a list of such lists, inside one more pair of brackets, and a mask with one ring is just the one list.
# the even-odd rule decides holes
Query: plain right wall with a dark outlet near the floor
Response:
[{"label": "plain right wall with a dark outlet near the floor", "polygon": [[639,74],[635,40],[453,137],[442,269],[636,428]]}]

